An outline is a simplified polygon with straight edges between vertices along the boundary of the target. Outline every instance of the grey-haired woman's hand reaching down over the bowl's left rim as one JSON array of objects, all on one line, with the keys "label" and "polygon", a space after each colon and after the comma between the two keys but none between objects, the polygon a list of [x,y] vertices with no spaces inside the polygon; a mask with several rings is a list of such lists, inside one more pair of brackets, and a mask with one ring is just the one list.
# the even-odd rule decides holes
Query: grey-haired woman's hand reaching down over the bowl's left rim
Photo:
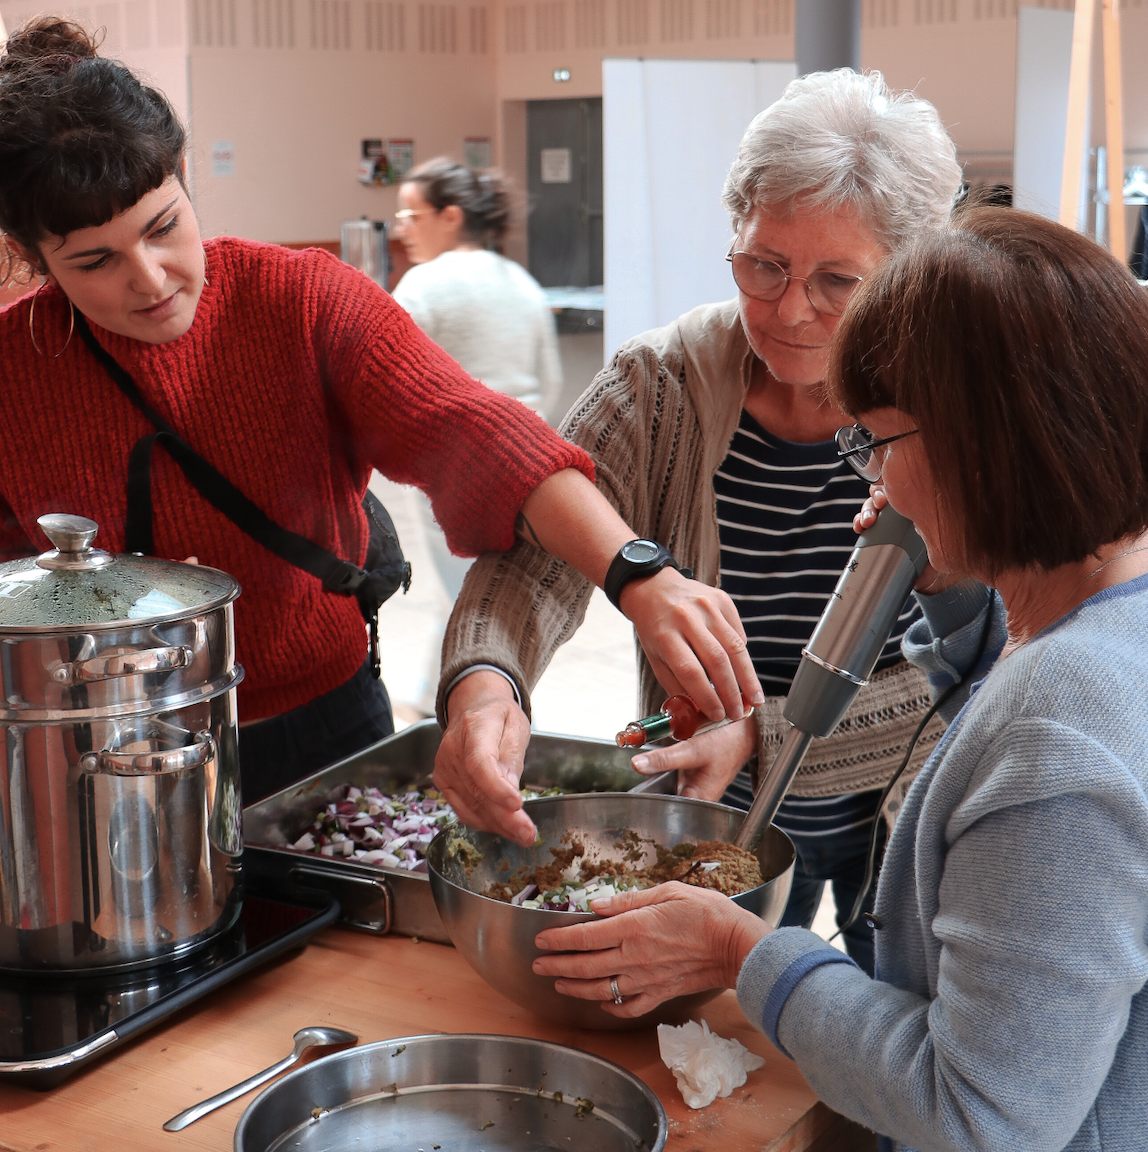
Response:
[{"label": "grey-haired woman's hand reaching down over the bowl's left rim", "polygon": [[493,672],[458,682],[447,702],[448,725],[434,758],[434,783],[463,824],[529,847],[538,839],[523,810],[522,776],[530,720],[510,684]]}]

